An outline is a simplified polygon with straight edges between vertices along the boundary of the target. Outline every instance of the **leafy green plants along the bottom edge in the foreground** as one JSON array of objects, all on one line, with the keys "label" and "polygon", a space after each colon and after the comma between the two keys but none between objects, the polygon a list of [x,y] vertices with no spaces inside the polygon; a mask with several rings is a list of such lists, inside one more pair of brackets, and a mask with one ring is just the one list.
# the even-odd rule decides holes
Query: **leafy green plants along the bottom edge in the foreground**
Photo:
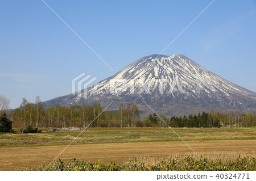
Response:
[{"label": "leafy green plants along the bottom edge in the foreground", "polygon": [[[45,167],[39,170],[44,170]],[[30,170],[38,170],[36,168]],[[76,161],[76,159],[70,162],[64,162],[59,159],[52,166],[48,167],[46,170],[256,170],[256,158],[255,157],[243,157],[236,158],[228,161],[218,159],[217,161],[209,160],[207,158],[167,158],[160,159],[157,161],[140,161],[138,159],[130,160],[129,162],[123,164],[112,163],[102,163],[100,161],[91,163],[86,161]]]}]

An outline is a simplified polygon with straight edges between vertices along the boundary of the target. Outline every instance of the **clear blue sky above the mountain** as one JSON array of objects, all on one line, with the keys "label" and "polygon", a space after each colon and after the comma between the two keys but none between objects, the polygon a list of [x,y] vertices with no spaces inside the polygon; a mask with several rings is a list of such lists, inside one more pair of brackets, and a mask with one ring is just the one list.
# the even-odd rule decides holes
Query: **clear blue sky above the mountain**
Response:
[{"label": "clear blue sky above the mountain", "polygon": [[[16,108],[36,95],[71,93],[81,73],[102,80],[159,54],[208,0],[44,0],[88,43],[110,70],[41,0],[0,1],[0,95]],[[184,54],[204,68],[256,91],[256,1],[216,0],[163,53]]]}]

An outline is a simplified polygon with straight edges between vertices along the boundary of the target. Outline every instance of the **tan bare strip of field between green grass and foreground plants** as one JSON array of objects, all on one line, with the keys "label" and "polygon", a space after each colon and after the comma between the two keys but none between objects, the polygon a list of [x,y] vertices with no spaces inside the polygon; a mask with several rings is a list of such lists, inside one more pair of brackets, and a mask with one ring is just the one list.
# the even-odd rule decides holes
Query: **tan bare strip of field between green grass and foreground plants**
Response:
[{"label": "tan bare strip of field between green grass and foreground plants", "polygon": [[[198,154],[222,158],[230,154],[255,154],[256,140],[188,141]],[[66,146],[24,146],[0,148],[0,170],[24,170],[48,165]],[[137,142],[115,144],[71,145],[61,159],[122,163],[137,158],[166,158],[193,154],[184,142]]]}]

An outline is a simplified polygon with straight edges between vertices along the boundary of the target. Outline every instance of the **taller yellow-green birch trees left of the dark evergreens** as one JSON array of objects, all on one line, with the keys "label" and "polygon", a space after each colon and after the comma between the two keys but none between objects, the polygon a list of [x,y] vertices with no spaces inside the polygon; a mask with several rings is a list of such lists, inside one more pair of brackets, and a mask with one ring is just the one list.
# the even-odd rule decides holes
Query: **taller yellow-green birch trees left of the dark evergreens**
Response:
[{"label": "taller yellow-green birch trees left of the dark evergreens", "polygon": [[139,122],[138,107],[134,102],[125,106],[119,106],[118,112],[102,112],[101,104],[92,106],[71,106],[70,108],[51,106],[44,108],[37,96],[35,103],[29,103],[23,98],[19,108],[10,113],[10,119],[14,121],[14,127],[36,128],[46,127],[137,127]]}]

